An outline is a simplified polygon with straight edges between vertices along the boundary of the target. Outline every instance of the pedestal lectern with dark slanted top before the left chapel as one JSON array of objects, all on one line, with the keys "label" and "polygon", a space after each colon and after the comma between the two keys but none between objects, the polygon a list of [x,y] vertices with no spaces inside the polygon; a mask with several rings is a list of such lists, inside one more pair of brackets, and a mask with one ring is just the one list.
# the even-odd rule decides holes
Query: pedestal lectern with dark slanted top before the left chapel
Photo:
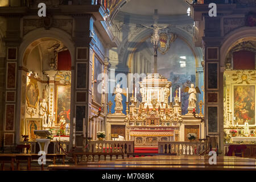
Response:
[{"label": "pedestal lectern with dark slanted top before the left chapel", "polygon": [[50,143],[50,139],[47,139],[47,137],[52,134],[48,130],[35,130],[34,133],[40,137],[40,139],[36,139],[36,142],[39,144],[40,151],[44,151],[47,154]]}]

